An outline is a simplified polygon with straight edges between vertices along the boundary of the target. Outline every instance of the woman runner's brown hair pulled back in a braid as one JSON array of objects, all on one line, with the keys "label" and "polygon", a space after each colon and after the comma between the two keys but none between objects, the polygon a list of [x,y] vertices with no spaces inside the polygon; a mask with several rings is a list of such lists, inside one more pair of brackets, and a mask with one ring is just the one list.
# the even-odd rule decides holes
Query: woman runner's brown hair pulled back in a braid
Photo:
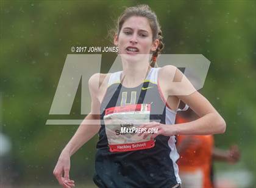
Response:
[{"label": "woman runner's brown hair pulled back in a braid", "polygon": [[160,29],[157,16],[148,5],[137,5],[135,7],[127,7],[126,10],[124,10],[124,12],[118,18],[118,23],[116,25],[116,32],[115,32],[117,35],[119,35],[124,22],[132,16],[141,16],[141,17],[147,18],[152,29],[153,41],[155,39],[159,40],[157,50],[152,52],[152,57],[151,57],[150,65],[151,67],[155,67],[157,56],[158,54],[160,54],[161,50],[163,50],[163,47],[164,47],[164,44],[162,42],[162,39],[163,39],[162,31]]}]

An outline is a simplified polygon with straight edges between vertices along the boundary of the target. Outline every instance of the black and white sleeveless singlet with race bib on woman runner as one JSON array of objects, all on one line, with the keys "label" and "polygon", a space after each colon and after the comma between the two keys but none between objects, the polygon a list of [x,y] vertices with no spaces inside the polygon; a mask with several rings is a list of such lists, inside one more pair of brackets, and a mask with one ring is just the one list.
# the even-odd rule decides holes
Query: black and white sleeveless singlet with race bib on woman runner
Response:
[{"label": "black and white sleeveless singlet with race bib on woman runner", "polygon": [[[121,132],[124,128],[139,127],[126,119],[174,124],[176,112],[166,106],[158,86],[159,70],[149,70],[144,82],[133,88],[122,86],[122,72],[110,75],[101,103],[102,123],[93,177],[98,187],[163,188],[180,183],[175,136],[158,135],[154,141]],[[106,119],[113,124],[104,123]]]}]

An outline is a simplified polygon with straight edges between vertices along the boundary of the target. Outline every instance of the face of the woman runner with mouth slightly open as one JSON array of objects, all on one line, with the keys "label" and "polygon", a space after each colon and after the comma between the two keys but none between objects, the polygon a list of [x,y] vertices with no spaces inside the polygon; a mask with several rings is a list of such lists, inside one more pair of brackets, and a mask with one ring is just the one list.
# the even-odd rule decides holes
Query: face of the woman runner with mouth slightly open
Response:
[{"label": "face of the woman runner with mouth slightly open", "polygon": [[130,57],[138,54],[149,54],[157,49],[158,39],[152,41],[153,34],[147,18],[132,16],[128,18],[119,33],[115,36],[115,45],[118,45],[119,54]]}]

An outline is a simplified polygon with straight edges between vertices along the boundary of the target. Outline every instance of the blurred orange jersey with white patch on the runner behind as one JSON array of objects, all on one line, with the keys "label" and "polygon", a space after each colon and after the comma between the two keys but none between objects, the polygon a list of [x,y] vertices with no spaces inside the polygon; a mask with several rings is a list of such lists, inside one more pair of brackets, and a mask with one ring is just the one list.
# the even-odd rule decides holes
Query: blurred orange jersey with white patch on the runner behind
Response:
[{"label": "blurred orange jersey with white patch on the runner behind", "polygon": [[[176,116],[176,123],[186,123],[187,119]],[[186,141],[187,139],[187,141]],[[212,164],[213,135],[179,135],[177,147],[187,142],[180,151],[178,160],[182,187],[212,188],[210,169]]]}]

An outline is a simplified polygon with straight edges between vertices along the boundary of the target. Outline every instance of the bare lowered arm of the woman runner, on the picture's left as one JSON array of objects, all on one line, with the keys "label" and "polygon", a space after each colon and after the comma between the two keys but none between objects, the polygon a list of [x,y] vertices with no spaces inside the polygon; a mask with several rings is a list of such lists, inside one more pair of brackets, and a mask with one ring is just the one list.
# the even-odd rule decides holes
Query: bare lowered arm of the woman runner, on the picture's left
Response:
[{"label": "bare lowered arm of the woman runner, on the picture's left", "polygon": [[[99,92],[99,74],[91,76],[88,84],[91,95],[91,112],[85,117],[74,136],[62,150],[53,172],[55,178],[59,181],[59,184],[64,188],[74,187],[74,181],[69,180],[70,157],[98,133],[100,128],[100,102],[97,97]],[[87,124],[87,120],[99,121],[99,123]]]}]

